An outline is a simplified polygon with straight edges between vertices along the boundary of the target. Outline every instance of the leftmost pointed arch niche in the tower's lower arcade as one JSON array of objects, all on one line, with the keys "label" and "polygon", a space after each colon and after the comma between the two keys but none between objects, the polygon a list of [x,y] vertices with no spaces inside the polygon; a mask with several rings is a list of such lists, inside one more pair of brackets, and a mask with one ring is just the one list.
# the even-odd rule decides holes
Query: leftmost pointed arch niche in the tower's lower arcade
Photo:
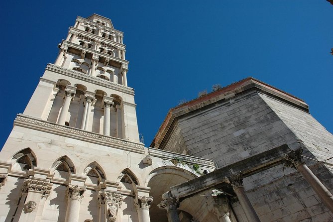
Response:
[{"label": "leftmost pointed arch niche in the tower's lower arcade", "polygon": [[11,158],[13,167],[22,171],[28,171],[37,166],[37,158],[34,152],[28,147],[15,153]]}]

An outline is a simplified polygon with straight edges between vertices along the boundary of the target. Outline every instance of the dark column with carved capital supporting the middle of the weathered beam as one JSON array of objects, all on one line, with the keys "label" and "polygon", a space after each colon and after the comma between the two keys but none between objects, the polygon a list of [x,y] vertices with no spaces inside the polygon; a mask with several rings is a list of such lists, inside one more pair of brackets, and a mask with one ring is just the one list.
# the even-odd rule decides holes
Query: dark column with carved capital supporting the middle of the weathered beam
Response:
[{"label": "dark column with carved capital supporting the middle of the weathered beam", "polygon": [[241,174],[239,173],[239,174],[232,175],[229,178],[229,181],[230,181],[230,184],[233,188],[233,191],[237,195],[237,198],[239,200],[239,204],[242,207],[247,220],[250,221],[250,222],[260,222],[257,213],[254,211],[254,209],[251,205],[251,202],[247,198],[246,193],[244,191]]}]

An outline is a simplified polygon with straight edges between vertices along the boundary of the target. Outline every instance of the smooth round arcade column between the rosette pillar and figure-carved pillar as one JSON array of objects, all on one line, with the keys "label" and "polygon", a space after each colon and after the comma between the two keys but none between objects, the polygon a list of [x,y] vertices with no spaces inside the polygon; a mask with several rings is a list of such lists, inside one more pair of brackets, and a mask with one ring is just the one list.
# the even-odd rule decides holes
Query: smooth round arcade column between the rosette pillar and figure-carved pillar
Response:
[{"label": "smooth round arcade column between the rosette pillar and figure-carved pillar", "polygon": [[68,205],[65,222],[79,222],[80,204],[86,187],[69,184],[67,187]]}]

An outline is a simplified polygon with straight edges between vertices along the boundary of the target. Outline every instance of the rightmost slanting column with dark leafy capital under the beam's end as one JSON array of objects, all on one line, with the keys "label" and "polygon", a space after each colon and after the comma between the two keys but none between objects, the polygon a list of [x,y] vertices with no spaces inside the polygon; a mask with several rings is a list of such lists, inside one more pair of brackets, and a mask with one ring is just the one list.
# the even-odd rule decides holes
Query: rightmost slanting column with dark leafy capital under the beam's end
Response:
[{"label": "rightmost slanting column with dark leafy capital under the beam's end", "polygon": [[303,149],[300,148],[296,151],[292,151],[286,155],[286,165],[292,166],[297,169],[304,179],[311,185],[314,191],[318,194],[320,199],[326,205],[328,209],[333,213],[333,195],[332,193],[322,184],[322,182],[316,177],[316,175],[309,169],[303,160]]}]

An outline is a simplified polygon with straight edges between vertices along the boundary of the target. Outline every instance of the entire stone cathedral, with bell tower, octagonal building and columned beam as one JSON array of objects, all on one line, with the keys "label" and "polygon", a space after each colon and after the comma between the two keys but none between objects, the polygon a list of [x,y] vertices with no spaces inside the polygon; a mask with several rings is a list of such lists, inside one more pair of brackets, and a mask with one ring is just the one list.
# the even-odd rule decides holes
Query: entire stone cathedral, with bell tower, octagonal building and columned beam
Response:
[{"label": "entire stone cathedral, with bell tower, octagonal building and columned beam", "polygon": [[249,77],[145,147],[123,32],[78,16],[58,47],[0,152],[1,222],[333,221],[333,135],[301,99]]}]

